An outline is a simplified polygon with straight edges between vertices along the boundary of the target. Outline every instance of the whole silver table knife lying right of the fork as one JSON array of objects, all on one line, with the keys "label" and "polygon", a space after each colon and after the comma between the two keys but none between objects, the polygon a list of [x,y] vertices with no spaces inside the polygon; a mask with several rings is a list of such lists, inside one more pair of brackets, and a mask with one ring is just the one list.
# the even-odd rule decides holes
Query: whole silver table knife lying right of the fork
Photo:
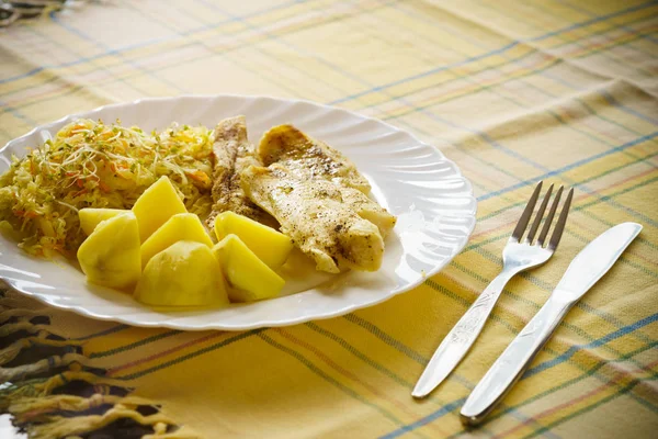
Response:
[{"label": "whole silver table knife lying right of the fork", "polygon": [[620,224],[603,232],[576,256],[548,301],[477,383],[462,407],[462,423],[481,424],[521,378],[571,306],[610,270],[639,230],[639,224]]}]

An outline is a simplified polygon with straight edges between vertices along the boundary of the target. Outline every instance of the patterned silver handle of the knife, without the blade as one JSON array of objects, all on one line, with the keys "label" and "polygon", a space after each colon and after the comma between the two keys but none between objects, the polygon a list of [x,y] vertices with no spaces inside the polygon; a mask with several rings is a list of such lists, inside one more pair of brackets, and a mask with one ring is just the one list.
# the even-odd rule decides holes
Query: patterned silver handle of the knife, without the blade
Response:
[{"label": "patterned silver handle of the knife, without the blade", "polygon": [[477,383],[462,407],[461,418],[464,425],[481,424],[542,350],[574,304],[570,300],[561,300],[560,295],[559,291],[551,294],[544,306]]}]

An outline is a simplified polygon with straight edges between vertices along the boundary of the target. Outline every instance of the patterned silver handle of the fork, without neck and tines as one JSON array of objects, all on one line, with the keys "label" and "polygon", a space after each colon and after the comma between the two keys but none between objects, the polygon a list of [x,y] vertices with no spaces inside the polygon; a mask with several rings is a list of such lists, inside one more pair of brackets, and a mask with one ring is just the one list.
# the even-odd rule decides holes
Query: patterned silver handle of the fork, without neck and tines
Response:
[{"label": "patterned silver handle of the fork, without neck and tines", "polygon": [[427,396],[453,371],[483,330],[494,305],[500,297],[502,289],[518,271],[513,269],[503,270],[494,278],[491,283],[466,311],[466,314],[447,333],[422,372],[411,395],[415,397]]}]

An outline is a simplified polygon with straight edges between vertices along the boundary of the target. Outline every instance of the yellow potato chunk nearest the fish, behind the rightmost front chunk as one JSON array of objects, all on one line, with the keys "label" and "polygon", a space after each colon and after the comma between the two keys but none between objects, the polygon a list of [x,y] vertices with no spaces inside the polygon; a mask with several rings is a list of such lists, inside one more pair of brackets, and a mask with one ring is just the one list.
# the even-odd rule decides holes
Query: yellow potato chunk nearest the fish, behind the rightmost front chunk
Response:
[{"label": "yellow potato chunk nearest the fish, behind the rightmost front chunk", "polygon": [[230,234],[237,235],[272,270],[279,270],[293,249],[291,238],[272,227],[234,212],[223,212],[215,218],[215,235],[222,240]]}]

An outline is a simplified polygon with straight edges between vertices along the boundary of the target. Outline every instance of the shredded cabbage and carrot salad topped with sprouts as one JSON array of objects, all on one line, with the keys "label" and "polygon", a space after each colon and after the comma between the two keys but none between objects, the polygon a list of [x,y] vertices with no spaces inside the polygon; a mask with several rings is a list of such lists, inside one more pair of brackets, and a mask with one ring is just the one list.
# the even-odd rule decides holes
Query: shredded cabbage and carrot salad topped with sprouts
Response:
[{"label": "shredded cabbage and carrot salad topped with sprouts", "polygon": [[172,124],[147,134],[120,123],[78,120],[24,158],[13,157],[0,176],[0,227],[16,235],[21,248],[75,256],[86,238],[78,210],[131,209],[161,176],[189,212],[209,214],[212,130]]}]

